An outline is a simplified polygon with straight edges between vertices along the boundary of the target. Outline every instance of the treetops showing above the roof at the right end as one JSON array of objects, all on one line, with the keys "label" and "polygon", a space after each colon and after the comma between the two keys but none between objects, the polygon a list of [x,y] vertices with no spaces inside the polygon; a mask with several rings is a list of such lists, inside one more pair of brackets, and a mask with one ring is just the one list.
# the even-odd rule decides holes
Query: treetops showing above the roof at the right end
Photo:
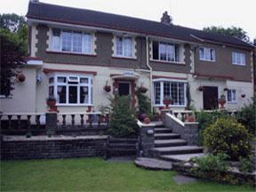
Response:
[{"label": "treetops showing above the roof at the right end", "polygon": [[236,38],[243,40],[244,42],[250,41],[249,36],[247,36],[247,32],[245,32],[243,28],[237,28],[234,26],[230,28],[223,28],[221,26],[219,27],[211,26],[211,27],[203,28],[203,30],[207,32],[226,35],[226,36],[234,36]]}]

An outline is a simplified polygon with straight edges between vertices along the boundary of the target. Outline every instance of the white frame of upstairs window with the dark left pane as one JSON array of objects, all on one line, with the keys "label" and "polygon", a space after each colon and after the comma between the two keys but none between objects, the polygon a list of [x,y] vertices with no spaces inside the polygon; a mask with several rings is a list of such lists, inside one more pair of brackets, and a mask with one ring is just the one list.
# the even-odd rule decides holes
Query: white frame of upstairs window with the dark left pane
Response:
[{"label": "white frame of upstairs window with the dark left pane", "polygon": [[[154,58],[153,58],[153,42],[157,42],[158,43],[158,60],[156,60],[156,61],[161,61],[161,62],[168,62],[168,63],[178,63],[178,64],[183,64],[183,62],[181,62],[180,60],[181,60],[181,55],[180,55],[180,47],[181,47],[181,45],[180,44],[173,44],[173,43],[170,43],[170,42],[164,42],[164,41],[158,41],[158,40],[152,40],[151,41],[151,47],[152,47],[152,49],[151,49],[151,58],[152,58],[152,60],[155,60]],[[161,60],[161,52],[160,52],[160,44],[164,44],[165,45],[165,60]],[[168,47],[168,45],[169,46],[172,46],[173,47],[173,52],[167,52],[167,47]],[[179,49],[179,55],[176,55],[176,46],[178,46],[178,49]],[[172,55],[173,54],[173,59],[174,60],[168,60],[168,55]]]}]

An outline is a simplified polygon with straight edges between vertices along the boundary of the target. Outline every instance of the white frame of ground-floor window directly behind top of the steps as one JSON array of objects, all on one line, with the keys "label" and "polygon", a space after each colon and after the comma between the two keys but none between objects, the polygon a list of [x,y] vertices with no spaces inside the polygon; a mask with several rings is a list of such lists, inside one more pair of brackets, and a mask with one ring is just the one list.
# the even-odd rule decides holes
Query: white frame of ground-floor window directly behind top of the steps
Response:
[{"label": "white frame of ground-floor window directly behind top of the steps", "polygon": [[[170,83],[180,83],[180,84],[184,84],[184,105],[171,105],[172,107],[180,107],[180,108],[185,108],[187,105],[187,97],[186,97],[186,89],[187,89],[187,83],[188,81],[186,80],[175,80],[175,79],[168,79],[168,78],[159,78],[159,79],[155,79],[152,81],[152,91],[153,91],[153,96],[154,96],[154,107],[164,107],[164,82],[170,82]],[[156,104],[156,100],[155,100],[155,89],[154,89],[154,84],[155,83],[160,83],[160,104]],[[170,90],[170,92],[172,92],[172,90]],[[171,93],[172,94],[172,93]],[[177,94],[179,95],[179,86],[178,86],[178,92]],[[179,97],[178,97],[179,100]]]}]

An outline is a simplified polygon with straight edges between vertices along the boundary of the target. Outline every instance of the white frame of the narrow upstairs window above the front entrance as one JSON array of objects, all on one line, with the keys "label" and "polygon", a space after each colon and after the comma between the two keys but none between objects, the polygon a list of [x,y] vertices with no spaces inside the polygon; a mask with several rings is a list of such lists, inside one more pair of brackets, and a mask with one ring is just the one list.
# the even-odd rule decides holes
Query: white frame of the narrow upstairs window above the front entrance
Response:
[{"label": "white frame of the narrow upstairs window above the front entrance", "polygon": [[[122,38],[122,54],[117,54],[117,39]],[[130,38],[131,39],[131,56],[125,55],[125,39]],[[114,38],[114,44],[115,44],[115,57],[120,57],[120,58],[134,58],[134,37],[132,36],[115,36]]]}]

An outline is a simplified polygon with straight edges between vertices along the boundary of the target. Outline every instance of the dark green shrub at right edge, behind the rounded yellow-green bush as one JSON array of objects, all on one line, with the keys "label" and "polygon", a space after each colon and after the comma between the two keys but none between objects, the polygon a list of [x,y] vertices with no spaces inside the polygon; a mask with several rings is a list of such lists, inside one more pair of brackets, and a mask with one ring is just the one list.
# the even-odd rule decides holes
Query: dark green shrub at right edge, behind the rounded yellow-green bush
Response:
[{"label": "dark green shrub at right edge, behind the rounded yellow-green bush", "polygon": [[252,98],[249,104],[244,105],[236,118],[250,133],[256,135],[256,98]]}]

